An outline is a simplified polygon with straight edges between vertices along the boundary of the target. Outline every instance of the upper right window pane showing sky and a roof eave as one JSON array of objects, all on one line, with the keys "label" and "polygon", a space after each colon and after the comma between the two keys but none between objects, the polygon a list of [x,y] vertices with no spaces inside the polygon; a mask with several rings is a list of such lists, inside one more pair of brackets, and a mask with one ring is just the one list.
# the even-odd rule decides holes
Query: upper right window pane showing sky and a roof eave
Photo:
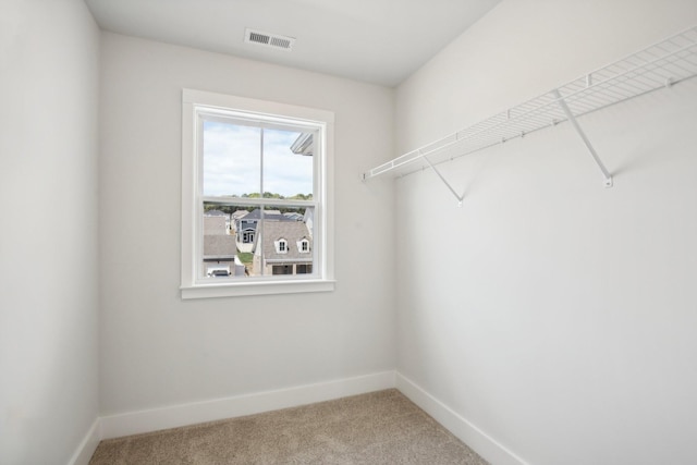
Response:
[{"label": "upper right window pane showing sky and a roof eave", "polygon": [[264,130],[265,197],[311,198],[314,140],[311,133]]}]

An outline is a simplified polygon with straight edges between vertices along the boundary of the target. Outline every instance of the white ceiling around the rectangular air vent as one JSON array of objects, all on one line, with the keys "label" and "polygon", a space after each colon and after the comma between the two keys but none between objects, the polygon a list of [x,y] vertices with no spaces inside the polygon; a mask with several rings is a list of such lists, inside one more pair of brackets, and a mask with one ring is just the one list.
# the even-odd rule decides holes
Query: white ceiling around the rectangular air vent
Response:
[{"label": "white ceiling around the rectangular air vent", "polygon": [[[500,0],[85,0],[102,29],[395,86]],[[245,44],[245,28],[295,38]]]}]

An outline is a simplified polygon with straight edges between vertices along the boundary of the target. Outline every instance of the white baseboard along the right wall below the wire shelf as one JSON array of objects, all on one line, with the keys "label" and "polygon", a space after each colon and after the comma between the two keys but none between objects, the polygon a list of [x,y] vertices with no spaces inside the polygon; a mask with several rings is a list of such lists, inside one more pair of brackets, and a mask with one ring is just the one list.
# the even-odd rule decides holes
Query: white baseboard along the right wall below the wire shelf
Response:
[{"label": "white baseboard along the right wall below the wire shelf", "polygon": [[399,372],[396,389],[492,465],[528,465],[523,458]]}]

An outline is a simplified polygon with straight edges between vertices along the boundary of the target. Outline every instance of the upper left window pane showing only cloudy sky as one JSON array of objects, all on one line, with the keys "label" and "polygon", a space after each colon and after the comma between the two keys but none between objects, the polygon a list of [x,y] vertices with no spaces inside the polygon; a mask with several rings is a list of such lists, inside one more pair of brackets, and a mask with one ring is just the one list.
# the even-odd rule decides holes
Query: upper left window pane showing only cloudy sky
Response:
[{"label": "upper left window pane showing only cloudy sky", "polygon": [[204,195],[254,196],[261,192],[261,130],[204,121]]}]

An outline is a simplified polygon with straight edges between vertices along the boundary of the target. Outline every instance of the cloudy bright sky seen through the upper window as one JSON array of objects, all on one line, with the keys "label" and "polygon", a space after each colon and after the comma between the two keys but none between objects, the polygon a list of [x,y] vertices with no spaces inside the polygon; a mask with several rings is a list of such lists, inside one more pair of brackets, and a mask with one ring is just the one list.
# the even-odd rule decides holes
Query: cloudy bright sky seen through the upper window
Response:
[{"label": "cloudy bright sky seen through the upper window", "polygon": [[[299,132],[264,130],[264,192],[291,197],[313,193],[313,157],[293,154]],[[258,193],[261,130],[204,122],[204,195]]]}]

